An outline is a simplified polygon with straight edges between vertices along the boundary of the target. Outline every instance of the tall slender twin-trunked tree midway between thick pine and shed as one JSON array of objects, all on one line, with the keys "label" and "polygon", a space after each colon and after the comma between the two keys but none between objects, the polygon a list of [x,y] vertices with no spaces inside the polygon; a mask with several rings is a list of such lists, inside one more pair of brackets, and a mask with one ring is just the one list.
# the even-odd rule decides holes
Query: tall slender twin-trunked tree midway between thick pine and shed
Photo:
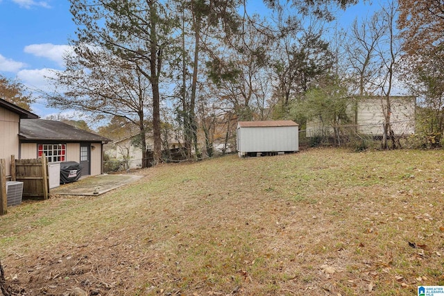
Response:
[{"label": "tall slender twin-trunked tree midway between thick pine and shed", "polygon": [[237,31],[238,7],[239,1],[236,0],[178,1],[178,10],[182,18],[180,119],[188,157],[191,157],[191,146],[198,155],[196,106],[198,106],[198,85],[205,80],[201,65],[208,55],[214,55],[210,52],[211,42],[219,44],[223,38],[229,39],[232,33]]}]

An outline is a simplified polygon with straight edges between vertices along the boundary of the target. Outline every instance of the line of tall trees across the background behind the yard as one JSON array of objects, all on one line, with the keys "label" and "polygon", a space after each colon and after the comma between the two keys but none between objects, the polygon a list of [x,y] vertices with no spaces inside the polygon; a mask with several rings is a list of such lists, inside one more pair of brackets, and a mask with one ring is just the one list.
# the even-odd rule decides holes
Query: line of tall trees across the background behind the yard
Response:
[{"label": "line of tall trees across the background behind the yard", "polygon": [[[418,96],[420,137],[441,142],[442,0],[388,1],[350,28],[334,26],[334,11],[357,0],[264,0],[260,15],[246,0],[70,2],[74,51],[49,105],[107,120],[107,137],[138,133],[144,159],[151,135],[154,163],[171,137],[189,158],[211,156],[237,121],[353,123],[346,110],[369,95],[381,99],[382,147],[396,148],[391,96],[400,81]],[[0,80],[0,96],[31,103],[19,82]]]}]

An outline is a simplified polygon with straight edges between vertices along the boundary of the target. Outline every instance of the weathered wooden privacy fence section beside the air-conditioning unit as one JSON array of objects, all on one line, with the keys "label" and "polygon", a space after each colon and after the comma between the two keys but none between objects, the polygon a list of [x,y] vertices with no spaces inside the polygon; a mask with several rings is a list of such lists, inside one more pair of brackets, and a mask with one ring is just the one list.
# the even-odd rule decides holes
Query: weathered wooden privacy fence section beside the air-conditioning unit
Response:
[{"label": "weathered wooden privacy fence section beside the air-conditioning unit", "polygon": [[11,162],[11,167],[14,166],[15,175],[11,170],[11,178],[23,182],[24,199],[47,200],[49,198],[48,162],[46,157],[14,159]]}]

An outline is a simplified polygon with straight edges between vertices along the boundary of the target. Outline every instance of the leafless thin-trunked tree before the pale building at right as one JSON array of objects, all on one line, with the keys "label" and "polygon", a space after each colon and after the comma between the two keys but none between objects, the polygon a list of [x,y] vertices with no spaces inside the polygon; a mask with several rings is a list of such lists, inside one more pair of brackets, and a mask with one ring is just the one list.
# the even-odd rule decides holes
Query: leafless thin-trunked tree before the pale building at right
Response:
[{"label": "leafless thin-trunked tree before the pale building at right", "polygon": [[395,21],[398,7],[394,1],[375,12],[370,19],[352,24],[348,42],[344,49],[349,64],[348,73],[352,92],[355,97],[355,123],[357,123],[357,105],[359,98],[378,94],[381,98],[384,116],[382,148],[388,148],[387,139],[392,140],[396,148],[393,130],[391,129],[391,94],[395,79],[395,64],[400,54],[400,42],[395,34]]}]

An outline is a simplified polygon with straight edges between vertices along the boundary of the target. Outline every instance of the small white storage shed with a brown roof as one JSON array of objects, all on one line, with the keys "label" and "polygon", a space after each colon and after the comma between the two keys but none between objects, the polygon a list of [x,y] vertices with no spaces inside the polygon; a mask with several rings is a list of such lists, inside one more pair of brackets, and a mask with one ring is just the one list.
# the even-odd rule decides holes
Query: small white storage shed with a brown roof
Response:
[{"label": "small white storage shed with a brown roof", "polygon": [[276,155],[299,150],[299,125],[294,121],[239,121],[239,157]]}]

